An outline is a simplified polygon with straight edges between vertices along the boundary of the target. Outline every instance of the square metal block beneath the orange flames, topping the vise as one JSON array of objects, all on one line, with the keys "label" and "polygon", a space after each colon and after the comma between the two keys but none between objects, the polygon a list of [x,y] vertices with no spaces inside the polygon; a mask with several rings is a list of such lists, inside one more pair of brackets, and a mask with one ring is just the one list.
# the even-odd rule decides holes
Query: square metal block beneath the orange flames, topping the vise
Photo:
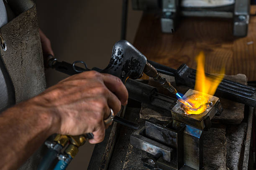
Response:
[{"label": "square metal block beneath the orange flames, topping the vise", "polygon": [[[189,89],[185,96],[190,96],[193,94],[202,94],[196,90]],[[218,97],[207,95],[207,98],[212,102],[212,107],[208,107],[204,112],[195,115],[186,115],[185,111],[182,109],[182,104],[178,102],[172,108],[172,118],[179,122],[191,125],[195,128],[203,130],[204,128],[210,128],[211,119],[215,114],[220,114],[223,111],[223,108],[220,104],[220,99]]]}]

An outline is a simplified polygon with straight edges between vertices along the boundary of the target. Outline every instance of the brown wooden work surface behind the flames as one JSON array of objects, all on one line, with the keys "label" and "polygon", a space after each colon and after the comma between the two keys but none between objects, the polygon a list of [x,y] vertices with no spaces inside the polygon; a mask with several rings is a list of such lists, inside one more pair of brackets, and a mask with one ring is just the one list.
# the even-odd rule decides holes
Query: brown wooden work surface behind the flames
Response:
[{"label": "brown wooden work surface behind the flames", "polygon": [[[251,7],[256,11],[256,6]],[[148,60],[177,69],[196,68],[195,57],[205,52],[205,71],[225,66],[227,75],[243,73],[256,80],[256,16],[251,15],[247,37],[233,37],[233,21],[221,18],[181,18],[174,34],[161,32],[160,15],[144,13],[134,46]]]}]

